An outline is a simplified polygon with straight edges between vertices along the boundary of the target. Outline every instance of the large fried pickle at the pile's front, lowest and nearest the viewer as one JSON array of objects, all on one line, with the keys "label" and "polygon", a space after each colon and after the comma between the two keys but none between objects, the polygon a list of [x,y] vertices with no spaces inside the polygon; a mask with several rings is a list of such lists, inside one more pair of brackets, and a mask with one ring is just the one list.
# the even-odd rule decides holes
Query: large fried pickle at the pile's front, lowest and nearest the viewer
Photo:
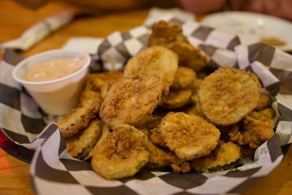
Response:
[{"label": "large fried pickle at the pile's front, lowest and nearest the viewer", "polygon": [[93,170],[107,179],[134,176],[149,160],[147,137],[130,125],[117,125],[94,151]]}]

